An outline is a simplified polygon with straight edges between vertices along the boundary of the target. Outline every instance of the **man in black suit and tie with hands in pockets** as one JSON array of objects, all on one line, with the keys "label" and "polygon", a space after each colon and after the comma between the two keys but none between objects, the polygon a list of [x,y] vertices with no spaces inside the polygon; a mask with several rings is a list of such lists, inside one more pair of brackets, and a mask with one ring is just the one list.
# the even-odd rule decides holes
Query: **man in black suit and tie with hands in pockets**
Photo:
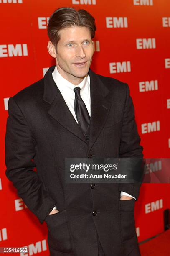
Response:
[{"label": "man in black suit and tie with hands in pockets", "polygon": [[134,225],[140,184],[64,178],[65,158],[142,157],[128,85],[89,69],[95,30],[85,10],[56,10],[48,24],[56,66],[8,103],[6,175],[47,223],[51,256],[140,255]]}]

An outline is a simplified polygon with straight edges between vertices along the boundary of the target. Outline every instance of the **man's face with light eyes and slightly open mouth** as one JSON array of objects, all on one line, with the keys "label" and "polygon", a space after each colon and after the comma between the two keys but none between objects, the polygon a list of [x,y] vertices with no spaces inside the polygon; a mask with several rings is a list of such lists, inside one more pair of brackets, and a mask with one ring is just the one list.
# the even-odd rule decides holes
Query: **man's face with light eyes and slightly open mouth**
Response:
[{"label": "man's face with light eyes and slightly open mouth", "polygon": [[70,27],[59,31],[56,64],[60,74],[70,82],[80,81],[89,71],[94,53],[90,31]]}]

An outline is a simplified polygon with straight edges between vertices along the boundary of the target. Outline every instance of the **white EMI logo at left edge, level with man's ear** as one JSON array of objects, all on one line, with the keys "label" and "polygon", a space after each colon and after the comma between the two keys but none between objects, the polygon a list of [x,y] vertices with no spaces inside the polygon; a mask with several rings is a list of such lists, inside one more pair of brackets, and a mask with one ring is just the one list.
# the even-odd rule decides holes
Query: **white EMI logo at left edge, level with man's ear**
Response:
[{"label": "white EMI logo at left edge, level with man's ear", "polygon": [[27,44],[0,44],[0,58],[28,56]]}]

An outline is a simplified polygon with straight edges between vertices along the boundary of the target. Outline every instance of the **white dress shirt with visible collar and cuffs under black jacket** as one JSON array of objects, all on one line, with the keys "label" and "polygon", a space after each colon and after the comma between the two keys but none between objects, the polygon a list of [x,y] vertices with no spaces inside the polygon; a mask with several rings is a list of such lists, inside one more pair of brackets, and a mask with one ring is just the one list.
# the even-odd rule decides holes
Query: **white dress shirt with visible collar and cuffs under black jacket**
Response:
[{"label": "white dress shirt with visible collar and cuffs under black jacket", "polygon": [[[77,118],[76,118],[76,114],[74,112],[74,99],[75,99],[75,92],[74,92],[74,88],[75,87],[80,87],[81,91],[81,98],[84,101],[86,108],[89,112],[89,116],[91,114],[90,111],[90,76],[87,75],[86,77],[84,77],[83,81],[78,84],[78,85],[74,85],[71,82],[69,82],[68,80],[66,80],[65,78],[63,78],[61,76],[61,74],[58,72],[57,67],[55,67],[53,73],[52,73],[54,82],[56,83],[56,86],[58,87],[58,89],[61,92],[61,95],[63,96],[63,99],[65,100],[71,114],[74,116],[76,122]],[[129,197],[133,197],[131,195],[129,195],[126,192],[121,191],[120,196],[122,195],[127,195]],[[133,197],[134,199],[136,199],[135,197]],[[56,206],[53,208],[53,210],[56,209]]]}]

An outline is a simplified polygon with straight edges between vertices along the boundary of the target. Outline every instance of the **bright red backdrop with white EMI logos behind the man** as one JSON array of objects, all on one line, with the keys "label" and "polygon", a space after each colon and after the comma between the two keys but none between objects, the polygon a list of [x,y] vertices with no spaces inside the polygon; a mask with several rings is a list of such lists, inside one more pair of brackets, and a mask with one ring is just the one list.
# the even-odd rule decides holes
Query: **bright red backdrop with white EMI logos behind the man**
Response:
[{"label": "bright red backdrop with white EMI logos behind the man", "polygon": [[[49,254],[47,228],[5,176],[8,98],[41,79],[45,68],[55,64],[47,51],[46,25],[53,11],[63,6],[84,8],[95,17],[91,69],[129,84],[144,156],[170,155],[169,0],[0,0],[0,247],[28,246],[30,255]],[[142,184],[135,207],[139,241],[163,232],[167,208],[170,184]]]}]

